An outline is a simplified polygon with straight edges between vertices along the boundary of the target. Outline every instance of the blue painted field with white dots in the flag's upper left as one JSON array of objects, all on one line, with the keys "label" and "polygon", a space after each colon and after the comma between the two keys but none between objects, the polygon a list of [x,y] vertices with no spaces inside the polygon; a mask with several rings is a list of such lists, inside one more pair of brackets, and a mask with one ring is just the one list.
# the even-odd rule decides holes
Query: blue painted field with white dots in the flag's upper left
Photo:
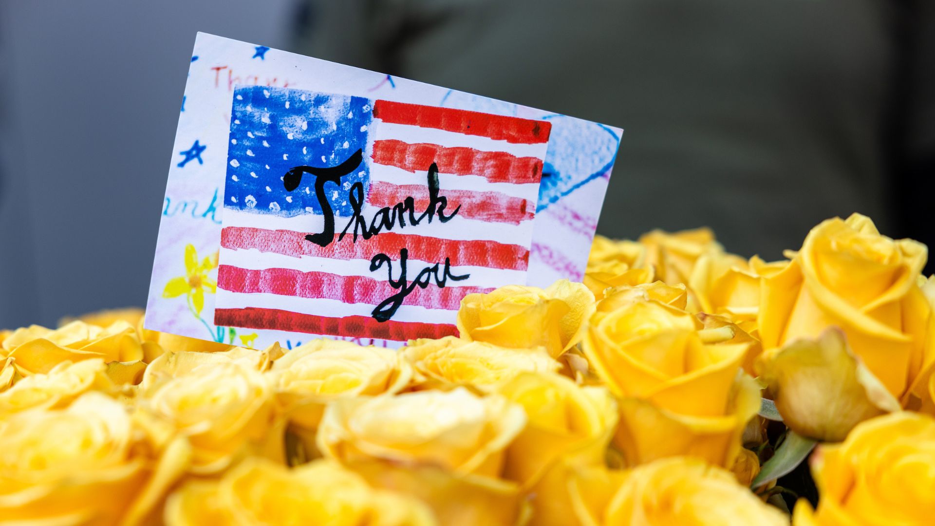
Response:
[{"label": "blue painted field with white dots in the flag's upper left", "polygon": [[[367,151],[371,101],[350,95],[249,86],[237,88],[231,111],[230,144],[224,207],[244,212],[294,217],[322,213],[313,178],[285,189],[283,177],[299,166],[334,167],[358,149]],[[347,190],[370,181],[369,156],[342,179],[338,192],[326,183],[325,193],[337,215],[350,215]]]}]

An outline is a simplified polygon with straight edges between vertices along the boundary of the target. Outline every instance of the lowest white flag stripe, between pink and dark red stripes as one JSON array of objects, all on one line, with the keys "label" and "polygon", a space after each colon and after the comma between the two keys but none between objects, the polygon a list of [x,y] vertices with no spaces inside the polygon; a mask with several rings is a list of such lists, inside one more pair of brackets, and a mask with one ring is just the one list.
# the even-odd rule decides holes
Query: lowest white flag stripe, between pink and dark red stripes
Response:
[{"label": "lowest white flag stripe, between pink and dark red stripes", "polygon": [[[345,303],[341,300],[324,298],[295,298],[293,296],[280,296],[278,294],[239,294],[218,289],[218,308],[246,309],[248,307],[260,309],[278,309],[298,314],[314,314],[339,318],[344,316],[371,316],[375,305],[366,303]],[[393,314],[394,321],[414,321],[422,323],[454,324],[457,311],[442,309],[426,309],[418,305],[400,305]]]}]

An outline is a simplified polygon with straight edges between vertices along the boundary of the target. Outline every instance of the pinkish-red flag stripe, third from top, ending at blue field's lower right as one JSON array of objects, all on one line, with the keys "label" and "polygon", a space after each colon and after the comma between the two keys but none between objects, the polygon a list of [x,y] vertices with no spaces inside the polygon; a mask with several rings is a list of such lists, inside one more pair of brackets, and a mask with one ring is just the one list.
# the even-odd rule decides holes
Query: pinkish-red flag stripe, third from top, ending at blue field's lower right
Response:
[{"label": "pinkish-red flag stripe, third from top, ending at blue field's lower right", "polygon": [[[445,213],[452,213],[460,206],[458,217],[479,221],[519,225],[521,221],[532,219],[536,211],[536,205],[526,199],[499,192],[442,189],[439,195],[448,198]],[[393,184],[381,181],[370,183],[367,202],[376,207],[392,208],[410,196],[415,199],[416,210],[425,210],[428,206],[428,187],[424,184]]]}]

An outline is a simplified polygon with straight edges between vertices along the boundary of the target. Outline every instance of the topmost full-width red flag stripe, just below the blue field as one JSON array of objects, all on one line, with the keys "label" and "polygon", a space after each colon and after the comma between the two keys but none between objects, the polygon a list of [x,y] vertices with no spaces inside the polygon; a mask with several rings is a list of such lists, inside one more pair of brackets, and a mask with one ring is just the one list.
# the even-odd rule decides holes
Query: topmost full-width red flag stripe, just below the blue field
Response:
[{"label": "topmost full-width red flag stripe, just below the blue field", "polygon": [[[221,230],[221,246],[234,250],[256,249],[285,256],[317,256],[332,259],[370,259],[385,254],[398,259],[399,249],[409,250],[410,259],[426,263],[444,263],[448,257],[453,267],[475,266],[491,269],[526,270],[529,251],[520,245],[496,241],[456,241],[383,232],[364,241],[353,242],[350,233],[343,241],[332,241],[322,247],[305,239],[305,232],[266,230],[250,226],[225,226]],[[394,269],[396,270],[396,269]],[[415,273],[412,274],[413,276]]]}]

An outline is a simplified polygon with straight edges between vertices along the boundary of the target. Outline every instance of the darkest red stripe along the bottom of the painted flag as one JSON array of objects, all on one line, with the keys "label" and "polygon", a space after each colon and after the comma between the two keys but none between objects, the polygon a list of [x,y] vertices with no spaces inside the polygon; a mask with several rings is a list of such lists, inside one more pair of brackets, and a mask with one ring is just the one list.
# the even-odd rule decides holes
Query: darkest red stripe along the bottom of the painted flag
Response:
[{"label": "darkest red stripe along the bottom of the painted flag", "polygon": [[405,342],[415,338],[442,338],[457,335],[458,329],[448,324],[407,321],[378,322],[369,316],[333,318],[315,314],[298,314],[277,309],[215,309],[214,325],[246,329],[277,329],[330,336],[379,338]]}]

